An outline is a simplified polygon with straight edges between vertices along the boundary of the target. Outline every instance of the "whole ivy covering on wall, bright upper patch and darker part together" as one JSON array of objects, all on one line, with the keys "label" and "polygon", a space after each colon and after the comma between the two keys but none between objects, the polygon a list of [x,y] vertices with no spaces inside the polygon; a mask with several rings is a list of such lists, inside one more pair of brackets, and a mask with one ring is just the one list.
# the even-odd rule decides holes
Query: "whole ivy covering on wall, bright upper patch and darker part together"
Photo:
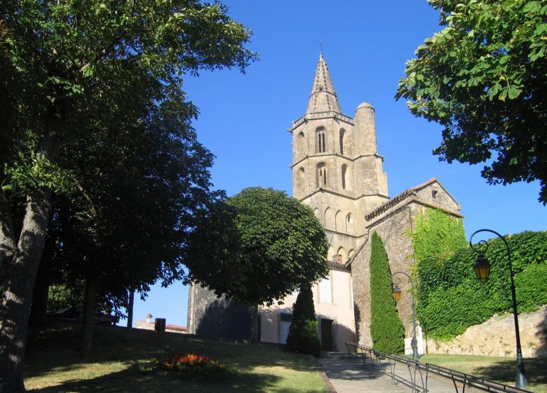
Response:
[{"label": "whole ivy covering on wall, bright upper patch and darker part together", "polygon": [[[494,314],[511,312],[508,256],[501,239],[489,241],[489,280],[479,282],[477,254],[466,244],[460,220],[428,210],[412,234],[417,260],[417,317],[424,333],[450,340]],[[506,236],[513,257],[518,312],[547,304],[547,232]],[[459,248],[459,249],[458,249]]]}]

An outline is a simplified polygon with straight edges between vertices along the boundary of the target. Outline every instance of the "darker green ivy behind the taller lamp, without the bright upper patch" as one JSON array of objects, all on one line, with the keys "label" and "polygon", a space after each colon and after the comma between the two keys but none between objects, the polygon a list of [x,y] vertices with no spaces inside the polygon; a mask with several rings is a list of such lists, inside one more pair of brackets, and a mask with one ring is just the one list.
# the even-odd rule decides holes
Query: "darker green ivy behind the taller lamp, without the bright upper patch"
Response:
[{"label": "darker green ivy behind the taller lamp, without the bright upper patch", "polygon": [[[547,232],[522,232],[506,240],[513,258],[518,312],[547,304]],[[449,340],[494,314],[512,312],[506,246],[498,238],[488,244],[486,257],[492,267],[484,283],[475,277],[477,253],[471,248],[454,253],[442,268],[418,264],[421,289],[417,314],[430,337]]]}]

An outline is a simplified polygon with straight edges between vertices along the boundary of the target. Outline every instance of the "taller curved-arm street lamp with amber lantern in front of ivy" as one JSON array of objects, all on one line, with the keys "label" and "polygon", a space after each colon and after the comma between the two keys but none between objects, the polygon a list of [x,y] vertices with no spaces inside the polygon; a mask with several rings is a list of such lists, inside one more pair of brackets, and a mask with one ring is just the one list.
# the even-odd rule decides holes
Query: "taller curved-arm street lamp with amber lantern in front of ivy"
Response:
[{"label": "taller curved-arm street lamp with amber lantern in front of ivy", "polygon": [[507,243],[506,239],[501,236],[498,232],[492,231],[492,229],[479,229],[478,231],[473,232],[471,237],[469,238],[469,246],[475,251],[475,253],[478,253],[477,262],[473,266],[475,269],[475,274],[477,275],[477,278],[480,281],[486,281],[488,279],[489,273],[490,273],[490,263],[488,262],[487,258],[485,257],[485,253],[488,249],[488,243],[484,240],[481,240],[478,242],[478,244],[481,245],[480,248],[475,248],[473,246],[473,243],[471,241],[473,240],[473,236],[475,234],[478,234],[479,232],[490,232],[495,234],[497,237],[499,237],[501,240],[504,241],[504,244],[507,248],[507,256],[509,260],[509,274],[511,276],[511,300],[513,301],[513,317],[515,319],[515,337],[517,339],[517,379],[515,381],[515,387],[525,387],[528,385],[528,380],[526,378],[525,369],[524,369],[524,362],[522,361],[522,349],[520,348],[520,333],[518,330],[518,313],[517,313],[517,296],[515,293],[515,279],[513,274],[513,263],[511,261],[511,249],[509,248],[509,244]]}]

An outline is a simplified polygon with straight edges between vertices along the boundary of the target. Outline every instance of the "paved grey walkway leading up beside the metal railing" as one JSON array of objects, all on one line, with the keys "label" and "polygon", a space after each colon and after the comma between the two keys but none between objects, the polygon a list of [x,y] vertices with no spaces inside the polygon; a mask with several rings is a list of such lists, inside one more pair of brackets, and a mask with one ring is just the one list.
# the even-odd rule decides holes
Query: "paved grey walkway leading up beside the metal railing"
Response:
[{"label": "paved grey walkway leading up beside the metal railing", "polygon": [[[318,368],[325,373],[328,379],[325,382],[327,387],[330,388],[329,393],[412,392],[412,389],[403,383],[396,382],[394,385],[391,377],[384,373],[384,371],[389,372],[387,361],[382,361],[381,369],[377,369],[372,368],[370,361],[367,359],[363,367],[362,359],[356,357],[348,358],[345,352],[323,354],[323,357],[317,359],[317,361]],[[410,379],[410,373],[404,364],[398,363],[396,365],[396,372],[405,379]],[[424,375],[424,379],[425,377],[426,375]],[[417,373],[416,378],[417,383],[421,385],[419,373]],[[461,384],[458,383],[457,385],[458,390],[454,388],[452,380],[440,377],[439,375],[428,375],[428,392],[461,393]],[[480,390],[471,389],[471,387],[466,386],[465,392],[480,392]]]}]

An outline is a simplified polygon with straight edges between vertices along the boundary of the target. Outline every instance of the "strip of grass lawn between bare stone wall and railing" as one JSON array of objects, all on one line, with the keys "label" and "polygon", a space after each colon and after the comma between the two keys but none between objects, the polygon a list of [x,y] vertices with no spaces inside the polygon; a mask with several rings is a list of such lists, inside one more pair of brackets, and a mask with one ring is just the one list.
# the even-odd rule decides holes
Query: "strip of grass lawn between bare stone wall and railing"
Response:
[{"label": "strip of grass lawn between bare stone wall and railing", "polygon": [[[420,361],[515,386],[517,363],[515,358],[426,354],[420,357]],[[524,359],[524,364],[530,384],[525,389],[547,393],[547,358]]]}]

